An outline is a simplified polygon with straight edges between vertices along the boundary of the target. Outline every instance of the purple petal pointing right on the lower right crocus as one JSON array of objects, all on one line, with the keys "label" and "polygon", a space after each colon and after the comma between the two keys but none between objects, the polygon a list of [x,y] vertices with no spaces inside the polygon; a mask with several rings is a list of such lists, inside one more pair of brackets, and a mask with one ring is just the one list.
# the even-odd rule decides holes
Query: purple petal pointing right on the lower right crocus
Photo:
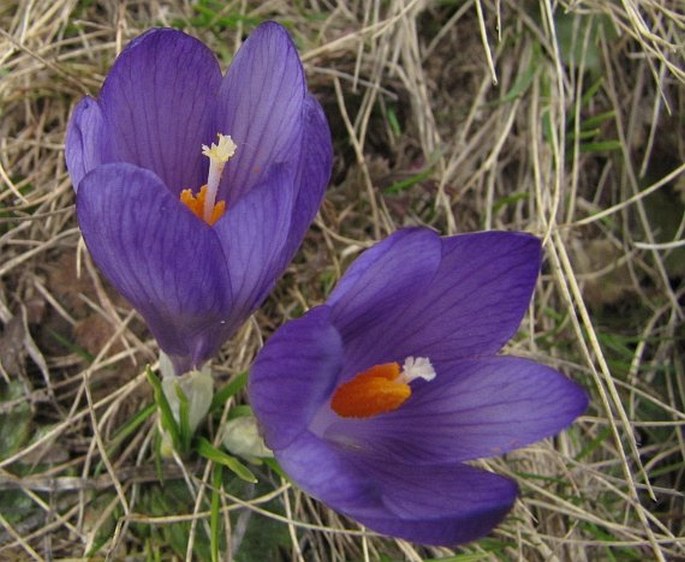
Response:
[{"label": "purple petal pointing right on the lower right crocus", "polygon": [[488,357],[435,367],[437,377],[416,381],[398,410],[369,420],[338,418],[325,437],[417,464],[465,461],[554,435],[587,407],[577,384],[527,359]]}]

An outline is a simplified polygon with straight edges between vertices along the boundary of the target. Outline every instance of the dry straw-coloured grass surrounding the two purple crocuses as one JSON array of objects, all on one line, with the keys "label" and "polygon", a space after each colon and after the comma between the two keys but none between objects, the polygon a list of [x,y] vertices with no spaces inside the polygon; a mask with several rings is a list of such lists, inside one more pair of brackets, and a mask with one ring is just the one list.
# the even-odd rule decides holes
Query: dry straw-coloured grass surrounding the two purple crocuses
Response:
[{"label": "dry straw-coloured grass surrounding the two purple crocuses", "polygon": [[[210,462],[156,464],[154,414],[117,437],[152,404],[157,348],[80,241],[70,111],[150,26],[183,28],[225,68],[264,19],[298,43],[334,175],[294,263],[215,362],[217,386],[401,226],[537,234],[545,267],[508,351],[591,405],[486,461],[522,496],[482,541],[378,537],[264,467],[256,486],[217,489]],[[0,560],[200,559],[212,498],[225,560],[684,558],[684,42],[678,0],[3,2]]]}]

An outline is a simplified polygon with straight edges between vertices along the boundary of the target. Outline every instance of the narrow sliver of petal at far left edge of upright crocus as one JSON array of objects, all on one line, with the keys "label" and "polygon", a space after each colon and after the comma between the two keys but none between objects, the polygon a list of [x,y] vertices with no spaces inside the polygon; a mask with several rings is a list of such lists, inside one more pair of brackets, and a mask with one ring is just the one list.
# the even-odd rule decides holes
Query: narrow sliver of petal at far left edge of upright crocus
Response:
[{"label": "narrow sliver of petal at far left edge of upright crocus", "polygon": [[74,189],[90,170],[100,165],[102,158],[102,112],[91,97],[83,98],[69,120],[65,140],[65,159]]}]

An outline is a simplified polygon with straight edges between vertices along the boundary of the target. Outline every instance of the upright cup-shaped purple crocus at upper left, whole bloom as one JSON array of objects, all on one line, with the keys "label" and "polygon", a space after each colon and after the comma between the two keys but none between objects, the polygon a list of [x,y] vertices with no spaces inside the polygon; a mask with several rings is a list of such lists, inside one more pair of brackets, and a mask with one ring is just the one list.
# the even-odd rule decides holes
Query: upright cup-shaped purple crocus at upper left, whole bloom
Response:
[{"label": "upright cup-shaped purple crocus at upper left, whole bloom", "polygon": [[93,259],[177,374],[211,358],[300,245],[331,172],[330,131],[280,25],[222,76],[214,54],[153,29],[69,123],[66,160]]}]

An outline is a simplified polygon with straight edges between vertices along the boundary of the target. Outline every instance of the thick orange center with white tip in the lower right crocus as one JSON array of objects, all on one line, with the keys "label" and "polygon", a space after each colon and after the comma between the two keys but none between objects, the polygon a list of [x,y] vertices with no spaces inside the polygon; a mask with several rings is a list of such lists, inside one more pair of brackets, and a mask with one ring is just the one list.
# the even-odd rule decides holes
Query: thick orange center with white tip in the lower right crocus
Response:
[{"label": "thick orange center with white tip in the lower right crocus", "polygon": [[392,412],[411,396],[411,381],[432,381],[435,370],[427,357],[407,357],[399,363],[382,363],[355,375],[335,389],[331,409],[343,418],[370,418]]}]

